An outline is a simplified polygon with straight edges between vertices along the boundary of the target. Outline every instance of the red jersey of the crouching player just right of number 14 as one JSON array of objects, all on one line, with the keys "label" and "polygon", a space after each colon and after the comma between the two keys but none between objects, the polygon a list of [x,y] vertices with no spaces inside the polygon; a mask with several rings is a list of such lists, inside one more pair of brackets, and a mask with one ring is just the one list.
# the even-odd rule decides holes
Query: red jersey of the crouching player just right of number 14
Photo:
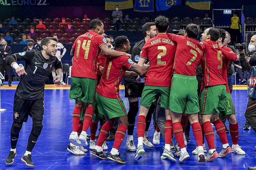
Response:
[{"label": "red jersey of the crouching player just right of number 14", "polygon": [[129,70],[133,64],[134,62],[125,55],[107,58],[104,73],[97,87],[97,92],[103,97],[119,99],[119,85],[124,72]]}]

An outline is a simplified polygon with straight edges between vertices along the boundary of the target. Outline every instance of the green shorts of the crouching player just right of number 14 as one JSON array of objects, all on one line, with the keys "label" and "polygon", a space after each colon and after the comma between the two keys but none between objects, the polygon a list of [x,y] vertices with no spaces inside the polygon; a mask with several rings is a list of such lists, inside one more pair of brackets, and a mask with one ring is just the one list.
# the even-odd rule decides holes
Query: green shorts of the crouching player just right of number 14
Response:
[{"label": "green shorts of the crouching player just right of number 14", "polygon": [[109,119],[127,115],[124,102],[121,98],[110,99],[103,97],[98,92],[96,92],[96,101],[100,115],[105,115]]}]

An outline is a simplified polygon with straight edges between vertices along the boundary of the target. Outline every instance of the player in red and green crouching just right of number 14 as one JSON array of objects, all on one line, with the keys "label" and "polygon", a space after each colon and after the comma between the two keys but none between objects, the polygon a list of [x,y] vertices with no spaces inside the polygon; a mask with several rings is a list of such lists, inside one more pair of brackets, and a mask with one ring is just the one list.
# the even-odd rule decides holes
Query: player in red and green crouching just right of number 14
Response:
[{"label": "player in red and green crouching just right of number 14", "polygon": [[[130,51],[130,42],[126,36],[116,37],[115,44],[117,51]],[[126,161],[122,159],[118,149],[124,140],[128,126],[128,118],[124,102],[119,95],[119,85],[126,70],[135,71],[143,75],[148,70],[148,66],[140,67],[125,55],[107,59],[103,76],[97,87],[96,101],[99,113],[104,114],[108,118],[108,121],[102,126],[97,145],[92,151],[93,156],[100,159],[110,159],[122,164],[126,163]],[[119,126],[115,134],[112,150],[108,154],[108,157],[106,157],[102,152],[102,144],[106,140],[114,121],[118,122]]]}]

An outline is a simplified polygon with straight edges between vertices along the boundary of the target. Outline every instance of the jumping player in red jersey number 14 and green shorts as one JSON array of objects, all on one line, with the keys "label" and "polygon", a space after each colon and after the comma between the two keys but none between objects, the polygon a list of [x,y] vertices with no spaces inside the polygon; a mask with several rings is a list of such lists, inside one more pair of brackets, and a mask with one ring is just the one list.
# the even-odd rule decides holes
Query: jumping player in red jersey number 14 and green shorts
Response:
[{"label": "jumping player in red jersey number 14 and green shorts", "polygon": [[93,19],[89,25],[89,31],[77,37],[72,46],[70,55],[74,56],[72,72],[71,72],[71,87],[69,91],[70,100],[76,99],[77,103],[73,110],[73,125],[69,140],[75,145],[77,138],[77,126],[83,102],[87,104],[84,114],[83,131],[79,135],[79,141],[82,145],[87,146],[86,131],[90,125],[93,115],[93,100],[96,91],[97,81],[97,63],[96,58],[100,50],[107,56],[117,57],[120,55],[130,54],[111,50],[106,44],[106,38],[101,34],[104,33],[104,25],[98,19]]}]

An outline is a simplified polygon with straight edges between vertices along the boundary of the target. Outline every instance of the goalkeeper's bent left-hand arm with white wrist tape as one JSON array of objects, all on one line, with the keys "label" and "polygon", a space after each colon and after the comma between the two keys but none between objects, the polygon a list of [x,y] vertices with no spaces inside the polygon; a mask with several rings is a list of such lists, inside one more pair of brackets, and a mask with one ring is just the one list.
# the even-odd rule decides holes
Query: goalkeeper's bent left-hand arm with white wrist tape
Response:
[{"label": "goalkeeper's bent left-hand arm with white wrist tape", "polygon": [[26,74],[26,71],[19,66],[17,61],[30,61],[34,57],[34,51],[24,51],[22,53],[15,53],[12,55],[8,55],[5,58],[5,62],[12,66],[15,69],[15,72],[19,75]]}]

